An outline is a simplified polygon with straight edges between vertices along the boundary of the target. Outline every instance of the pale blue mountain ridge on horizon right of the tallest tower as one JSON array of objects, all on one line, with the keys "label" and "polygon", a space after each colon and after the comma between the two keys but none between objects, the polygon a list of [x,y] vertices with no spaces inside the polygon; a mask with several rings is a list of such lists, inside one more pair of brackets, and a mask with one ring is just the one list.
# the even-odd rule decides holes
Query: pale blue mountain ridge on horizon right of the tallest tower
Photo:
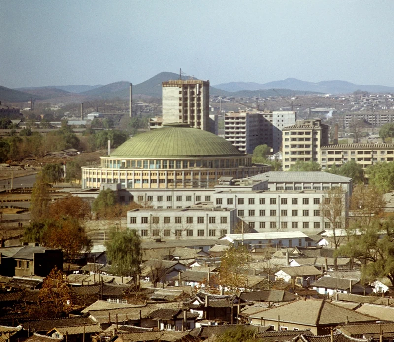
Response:
[{"label": "pale blue mountain ridge on horizon right of the tallest tower", "polygon": [[321,81],[318,83],[301,81],[296,78],[286,78],[281,81],[273,81],[264,84],[254,82],[230,82],[216,84],[215,88],[228,92],[238,92],[241,90],[260,90],[260,89],[292,89],[298,91],[312,91],[319,93],[341,94],[353,93],[356,90],[363,90],[370,93],[392,93],[394,87],[380,85],[361,85],[346,81]]}]

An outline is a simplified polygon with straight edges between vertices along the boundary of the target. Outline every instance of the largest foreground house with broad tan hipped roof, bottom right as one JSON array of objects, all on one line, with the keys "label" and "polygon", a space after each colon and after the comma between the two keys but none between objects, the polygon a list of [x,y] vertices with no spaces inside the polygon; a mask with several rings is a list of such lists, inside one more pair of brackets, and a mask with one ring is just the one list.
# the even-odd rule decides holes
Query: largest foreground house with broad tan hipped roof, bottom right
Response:
[{"label": "largest foreground house with broad tan hipped roof, bottom right", "polygon": [[275,330],[310,329],[325,335],[345,322],[375,322],[377,318],[336,306],[324,299],[301,299],[261,311],[249,317],[251,323],[272,326]]}]

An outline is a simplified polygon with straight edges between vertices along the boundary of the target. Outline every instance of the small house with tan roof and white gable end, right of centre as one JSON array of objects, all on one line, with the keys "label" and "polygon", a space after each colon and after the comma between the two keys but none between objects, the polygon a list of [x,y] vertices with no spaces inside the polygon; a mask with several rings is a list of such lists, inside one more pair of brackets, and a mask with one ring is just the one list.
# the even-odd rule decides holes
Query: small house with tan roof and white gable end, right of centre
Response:
[{"label": "small house with tan roof and white gable end, right of centre", "polygon": [[275,273],[275,280],[281,279],[297,286],[309,287],[321,275],[314,266],[282,267]]}]

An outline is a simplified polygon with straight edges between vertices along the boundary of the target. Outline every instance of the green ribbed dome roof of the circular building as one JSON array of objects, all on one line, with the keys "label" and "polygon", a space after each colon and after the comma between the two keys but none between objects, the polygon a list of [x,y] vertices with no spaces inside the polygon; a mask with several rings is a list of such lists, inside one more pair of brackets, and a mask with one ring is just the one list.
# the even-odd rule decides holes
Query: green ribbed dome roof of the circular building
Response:
[{"label": "green ribbed dome roof of the circular building", "polygon": [[191,127],[165,126],[132,137],[111,157],[162,158],[240,156],[230,142],[217,135]]}]

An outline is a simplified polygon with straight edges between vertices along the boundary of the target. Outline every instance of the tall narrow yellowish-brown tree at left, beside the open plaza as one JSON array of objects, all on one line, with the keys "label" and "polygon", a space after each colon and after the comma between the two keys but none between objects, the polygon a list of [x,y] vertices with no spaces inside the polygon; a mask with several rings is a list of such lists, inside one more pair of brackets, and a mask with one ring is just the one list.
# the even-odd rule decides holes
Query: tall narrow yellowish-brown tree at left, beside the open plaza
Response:
[{"label": "tall narrow yellowish-brown tree at left, beside the open plaza", "polygon": [[48,203],[48,183],[39,175],[32,189],[29,207],[30,217],[33,222],[42,222],[42,220],[45,219]]}]

